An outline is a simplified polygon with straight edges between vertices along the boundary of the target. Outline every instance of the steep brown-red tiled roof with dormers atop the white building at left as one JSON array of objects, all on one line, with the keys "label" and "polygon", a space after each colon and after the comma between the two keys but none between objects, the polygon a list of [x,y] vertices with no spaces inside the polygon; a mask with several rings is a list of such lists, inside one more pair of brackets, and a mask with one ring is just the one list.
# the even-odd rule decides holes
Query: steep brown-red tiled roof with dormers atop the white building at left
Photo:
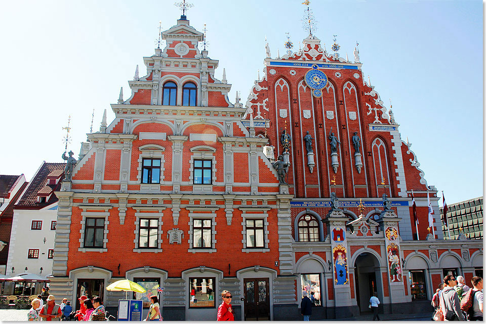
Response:
[{"label": "steep brown-red tiled roof with dormers atop the white building at left", "polygon": [[[18,204],[15,205],[15,208],[41,209],[57,202],[56,195],[52,194],[61,188],[61,180],[64,178],[65,166],[66,163],[44,162],[39,171],[34,175],[34,178],[30,181],[29,187]],[[59,179],[59,181],[56,184],[48,184],[48,179],[54,177]],[[37,201],[38,195],[48,196],[50,198],[46,202],[41,203]]]}]

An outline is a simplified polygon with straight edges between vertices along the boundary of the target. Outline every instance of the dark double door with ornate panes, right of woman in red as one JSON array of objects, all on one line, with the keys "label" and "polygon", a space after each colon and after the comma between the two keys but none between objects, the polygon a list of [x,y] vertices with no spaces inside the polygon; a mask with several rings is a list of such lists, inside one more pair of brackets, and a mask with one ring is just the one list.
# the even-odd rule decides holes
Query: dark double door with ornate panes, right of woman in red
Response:
[{"label": "dark double door with ornate panes, right of woman in red", "polygon": [[245,279],[245,320],[270,320],[268,278]]}]

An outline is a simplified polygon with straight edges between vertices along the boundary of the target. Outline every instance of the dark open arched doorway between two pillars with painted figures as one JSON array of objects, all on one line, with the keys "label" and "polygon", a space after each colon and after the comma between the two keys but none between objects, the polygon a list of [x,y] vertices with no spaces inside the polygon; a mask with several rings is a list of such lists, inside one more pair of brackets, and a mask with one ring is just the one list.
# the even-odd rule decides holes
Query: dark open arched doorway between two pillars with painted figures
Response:
[{"label": "dark open arched doorway between two pillars with painted figures", "polygon": [[372,253],[363,252],[356,257],[354,267],[356,302],[360,312],[367,312],[374,292],[378,293],[378,298],[383,302],[380,261]]}]

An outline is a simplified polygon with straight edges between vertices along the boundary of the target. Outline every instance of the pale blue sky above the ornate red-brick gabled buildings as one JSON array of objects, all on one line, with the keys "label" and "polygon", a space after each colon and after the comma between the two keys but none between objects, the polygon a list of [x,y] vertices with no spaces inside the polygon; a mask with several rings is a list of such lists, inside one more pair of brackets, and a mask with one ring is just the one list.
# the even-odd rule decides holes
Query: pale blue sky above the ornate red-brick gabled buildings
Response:
[{"label": "pale blue sky above the ornate red-brick gabled buildings", "polygon": [[[220,60],[245,102],[262,69],[265,36],[272,56],[284,54],[286,32],[298,46],[303,1],[194,0],[187,13],[207,24],[209,56]],[[0,12],[3,140],[0,174],[30,179],[42,161],[62,162],[62,130],[72,116],[75,153],[103,110],[114,114],[120,86],[143,56],[154,53],[158,22],[168,29],[180,11],[173,1],[11,1]],[[413,143],[429,185],[449,204],[483,193],[483,4],[481,1],[311,1],[314,34],[333,34],[352,58],[359,42],[363,73],[385,103],[392,99],[403,140]],[[440,192],[439,192],[440,194]]]}]

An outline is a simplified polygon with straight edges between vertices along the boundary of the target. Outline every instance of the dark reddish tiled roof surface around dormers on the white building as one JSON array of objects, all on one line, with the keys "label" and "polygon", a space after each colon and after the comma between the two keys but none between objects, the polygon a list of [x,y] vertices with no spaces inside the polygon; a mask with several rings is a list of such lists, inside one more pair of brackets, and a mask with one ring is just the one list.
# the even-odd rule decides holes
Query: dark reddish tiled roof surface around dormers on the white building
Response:
[{"label": "dark reddish tiled roof surface around dormers on the white building", "polygon": [[[54,172],[64,171],[64,167],[66,163],[46,163],[41,166],[35,177],[30,181],[29,187],[25,191],[25,194],[22,196],[20,201],[18,202],[15,207],[37,207],[43,208],[55,203],[58,199],[56,195],[51,195],[49,201],[45,203],[37,202],[37,194],[45,193],[48,188],[51,188],[53,191],[59,190],[61,188],[61,181],[55,186],[47,186],[47,178],[49,175],[53,174]],[[51,175],[52,176],[52,175]],[[64,176],[61,176],[61,179]],[[45,188],[47,187],[47,188]]]}]

